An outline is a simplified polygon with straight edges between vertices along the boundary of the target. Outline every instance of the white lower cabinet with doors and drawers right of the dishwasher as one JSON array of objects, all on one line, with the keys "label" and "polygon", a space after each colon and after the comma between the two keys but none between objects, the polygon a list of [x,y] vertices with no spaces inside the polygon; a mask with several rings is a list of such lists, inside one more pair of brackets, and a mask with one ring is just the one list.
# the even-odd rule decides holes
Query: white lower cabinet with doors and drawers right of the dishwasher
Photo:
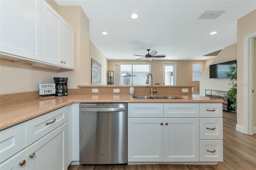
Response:
[{"label": "white lower cabinet with doors and drawers right of the dishwasher", "polygon": [[221,106],[128,103],[128,164],[223,161]]}]

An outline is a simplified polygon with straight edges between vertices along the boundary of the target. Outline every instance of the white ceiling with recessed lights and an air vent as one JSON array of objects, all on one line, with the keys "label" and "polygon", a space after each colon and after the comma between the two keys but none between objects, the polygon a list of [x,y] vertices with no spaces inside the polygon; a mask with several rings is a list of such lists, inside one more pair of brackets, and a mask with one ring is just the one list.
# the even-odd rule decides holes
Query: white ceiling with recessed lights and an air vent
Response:
[{"label": "white ceiling with recessed lights and an air vent", "polygon": [[[202,59],[236,43],[237,20],[256,9],[256,0],[56,0],[81,6],[90,20],[90,40],[107,59],[138,59],[146,49],[167,60]],[[225,12],[214,20],[205,11]],[[130,15],[137,13],[138,18]],[[108,32],[103,35],[102,32]],[[215,35],[210,32],[217,31]],[[211,57],[207,56],[206,59]]]}]

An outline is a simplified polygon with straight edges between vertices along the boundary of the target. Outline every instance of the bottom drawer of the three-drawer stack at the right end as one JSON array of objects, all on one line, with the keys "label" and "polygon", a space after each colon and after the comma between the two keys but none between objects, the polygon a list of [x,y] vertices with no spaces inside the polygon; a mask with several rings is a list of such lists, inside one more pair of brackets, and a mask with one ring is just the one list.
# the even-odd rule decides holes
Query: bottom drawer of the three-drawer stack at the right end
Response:
[{"label": "bottom drawer of the three-drawer stack at the right end", "polygon": [[223,161],[222,140],[200,140],[200,161]]}]

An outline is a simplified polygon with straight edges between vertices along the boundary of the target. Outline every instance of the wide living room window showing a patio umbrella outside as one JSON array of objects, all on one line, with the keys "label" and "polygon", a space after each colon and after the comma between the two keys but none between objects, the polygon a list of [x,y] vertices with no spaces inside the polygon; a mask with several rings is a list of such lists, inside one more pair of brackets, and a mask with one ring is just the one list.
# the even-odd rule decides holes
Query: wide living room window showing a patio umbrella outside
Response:
[{"label": "wide living room window showing a patio umbrella outside", "polygon": [[146,85],[149,64],[121,64],[120,85]]}]

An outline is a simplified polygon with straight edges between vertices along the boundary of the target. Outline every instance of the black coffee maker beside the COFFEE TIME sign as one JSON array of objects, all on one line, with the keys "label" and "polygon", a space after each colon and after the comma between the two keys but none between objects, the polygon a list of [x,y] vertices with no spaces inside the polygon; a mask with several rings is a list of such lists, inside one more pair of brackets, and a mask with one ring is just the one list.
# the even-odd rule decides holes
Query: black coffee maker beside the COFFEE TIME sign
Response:
[{"label": "black coffee maker beside the COFFEE TIME sign", "polygon": [[54,83],[56,84],[56,96],[68,95],[68,78],[65,77],[53,77]]}]

